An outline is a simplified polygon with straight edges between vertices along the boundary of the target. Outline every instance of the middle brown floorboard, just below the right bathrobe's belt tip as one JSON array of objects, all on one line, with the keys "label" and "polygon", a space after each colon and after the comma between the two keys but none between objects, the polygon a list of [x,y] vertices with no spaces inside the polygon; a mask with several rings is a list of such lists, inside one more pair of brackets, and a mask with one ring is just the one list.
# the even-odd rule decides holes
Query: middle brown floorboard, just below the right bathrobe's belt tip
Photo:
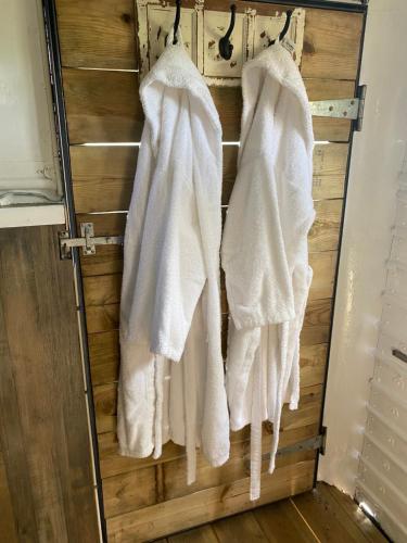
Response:
[{"label": "middle brown floorboard, just below the right bathrobe's belt tip", "polygon": [[254,509],[253,515],[271,543],[283,541],[316,543],[318,541],[290,500],[258,507]]}]

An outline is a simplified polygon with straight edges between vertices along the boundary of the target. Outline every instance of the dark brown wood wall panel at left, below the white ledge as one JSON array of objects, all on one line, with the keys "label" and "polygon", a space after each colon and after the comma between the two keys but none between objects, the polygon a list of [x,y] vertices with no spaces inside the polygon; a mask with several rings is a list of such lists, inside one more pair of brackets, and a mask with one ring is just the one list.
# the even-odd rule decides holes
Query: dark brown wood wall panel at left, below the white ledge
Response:
[{"label": "dark brown wood wall panel at left, below the white ledge", "polygon": [[98,541],[71,262],[55,227],[0,230],[1,450],[21,541]]}]

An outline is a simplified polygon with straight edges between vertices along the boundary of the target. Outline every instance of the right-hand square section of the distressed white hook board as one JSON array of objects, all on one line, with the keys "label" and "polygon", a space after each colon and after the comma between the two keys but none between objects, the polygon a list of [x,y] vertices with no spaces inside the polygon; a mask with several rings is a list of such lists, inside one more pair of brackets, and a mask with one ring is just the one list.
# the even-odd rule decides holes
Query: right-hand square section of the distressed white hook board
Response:
[{"label": "right-hand square section of the distressed white hook board", "polygon": [[[263,49],[269,47],[270,42],[281,34],[281,30],[284,27],[285,17],[285,13],[277,13],[272,17],[268,17],[265,15],[255,16],[253,43],[254,56],[263,51]],[[301,58],[303,54],[304,28],[305,10],[295,9],[291,16],[290,28],[287,36],[295,47],[293,59],[295,60],[297,66],[300,66],[301,64]]]}]

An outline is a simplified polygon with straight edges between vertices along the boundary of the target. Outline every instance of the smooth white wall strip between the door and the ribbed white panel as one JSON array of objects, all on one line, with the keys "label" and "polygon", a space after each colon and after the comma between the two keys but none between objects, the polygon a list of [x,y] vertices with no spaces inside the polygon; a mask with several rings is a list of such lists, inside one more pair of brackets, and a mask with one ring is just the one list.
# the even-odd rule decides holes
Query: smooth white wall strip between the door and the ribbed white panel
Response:
[{"label": "smooth white wall strip between the door and the ribbed white panel", "polygon": [[407,141],[407,2],[370,0],[318,478],[354,494],[391,249],[397,176]]}]

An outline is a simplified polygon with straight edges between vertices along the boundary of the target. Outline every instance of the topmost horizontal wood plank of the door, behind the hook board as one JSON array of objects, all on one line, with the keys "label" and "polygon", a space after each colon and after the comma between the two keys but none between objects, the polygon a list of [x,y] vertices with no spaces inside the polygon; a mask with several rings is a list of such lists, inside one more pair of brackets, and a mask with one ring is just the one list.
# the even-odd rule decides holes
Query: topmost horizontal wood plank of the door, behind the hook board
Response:
[{"label": "topmost horizontal wood plank of the door, behind the hook board", "polygon": [[[131,70],[137,67],[131,0],[58,0],[63,66]],[[187,5],[185,3],[185,5]],[[280,5],[236,2],[270,15]],[[225,0],[206,0],[207,10],[229,10]],[[363,27],[358,14],[306,10],[302,73],[304,77],[355,79]]]}]

